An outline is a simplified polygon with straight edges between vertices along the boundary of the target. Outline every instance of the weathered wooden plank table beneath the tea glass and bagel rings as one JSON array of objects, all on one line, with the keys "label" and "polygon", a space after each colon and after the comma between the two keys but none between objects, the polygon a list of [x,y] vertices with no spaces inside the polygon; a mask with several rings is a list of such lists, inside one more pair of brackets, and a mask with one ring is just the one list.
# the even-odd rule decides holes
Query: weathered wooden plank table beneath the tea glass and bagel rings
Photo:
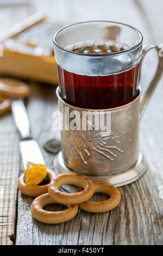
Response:
[{"label": "weathered wooden plank table beneath the tea glass and bagel rings", "polygon": [[[1,3],[0,3],[1,4]],[[161,0],[60,0],[34,1],[21,7],[1,7],[0,31],[34,10],[63,20],[113,20],[140,29],[144,42],[163,43]],[[142,65],[141,86],[145,92],[156,69],[156,54],[149,53]],[[52,130],[52,113],[57,109],[53,86],[30,82],[32,95],[27,111],[32,134],[42,147],[48,139],[58,137]],[[158,84],[140,125],[140,147],[148,162],[147,172],[136,182],[120,187],[118,207],[104,214],[79,210],[73,220],[62,224],[43,224],[32,217],[33,198],[17,190],[21,160],[18,134],[11,114],[0,118],[0,244],[1,245],[161,245],[163,243],[163,85]],[[54,155],[42,150],[46,164],[53,168]],[[72,187],[64,187],[72,191]],[[95,199],[100,199],[96,196]],[[59,206],[60,207],[60,206]],[[47,209],[56,209],[48,206]],[[58,208],[61,209],[61,208]]]}]

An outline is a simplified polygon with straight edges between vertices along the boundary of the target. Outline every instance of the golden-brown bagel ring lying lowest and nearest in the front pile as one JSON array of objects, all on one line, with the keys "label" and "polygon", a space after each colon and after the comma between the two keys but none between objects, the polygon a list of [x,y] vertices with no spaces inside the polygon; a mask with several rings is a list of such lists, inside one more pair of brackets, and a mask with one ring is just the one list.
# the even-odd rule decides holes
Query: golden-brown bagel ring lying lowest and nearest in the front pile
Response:
[{"label": "golden-brown bagel ring lying lowest and nearest in the front pile", "polygon": [[55,200],[49,197],[49,194],[41,194],[41,196],[36,197],[32,205],[30,206],[30,210],[32,212],[33,217],[37,221],[41,221],[43,223],[48,224],[57,224],[66,221],[70,221],[74,216],[78,213],[78,205],[71,204],[65,205],[68,209],[63,211],[46,211],[43,210],[43,206],[47,204],[58,204]]}]

